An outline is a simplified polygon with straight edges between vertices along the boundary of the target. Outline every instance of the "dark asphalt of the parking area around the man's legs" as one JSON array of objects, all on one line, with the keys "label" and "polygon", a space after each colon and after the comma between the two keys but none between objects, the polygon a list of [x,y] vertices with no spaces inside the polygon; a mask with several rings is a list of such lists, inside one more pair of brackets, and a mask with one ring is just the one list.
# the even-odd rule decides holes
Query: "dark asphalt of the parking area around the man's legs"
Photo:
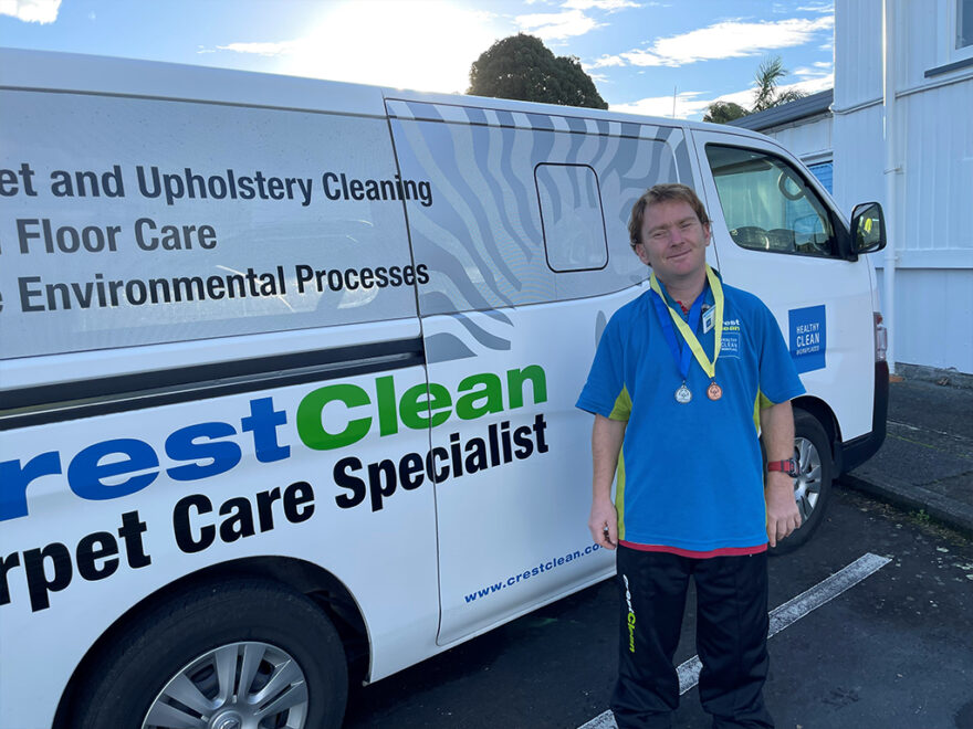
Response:
[{"label": "dark asphalt of the parking area around the man's legs", "polygon": [[[803,615],[770,641],[776,726],[973,729],[973,542],[854,489],[831,497],[814,538],[770,561],[772,614]],[[862,558],[889,561],[840,594],[825,590]],[[697,653],[690,593],[679,666]],[[606,580],[355,686],[345,727],[608,729],[619,600]],[[808,601],[816,608],[794,609]],[[712,727],[698,687],[683,694],[674,726]]]}]

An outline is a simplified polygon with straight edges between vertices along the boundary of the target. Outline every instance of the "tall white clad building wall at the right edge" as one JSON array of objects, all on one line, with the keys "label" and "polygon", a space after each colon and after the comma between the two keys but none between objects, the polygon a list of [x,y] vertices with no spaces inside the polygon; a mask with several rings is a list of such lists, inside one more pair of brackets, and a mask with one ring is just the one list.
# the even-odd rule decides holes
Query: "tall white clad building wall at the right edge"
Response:
[{"label": "tall white clad building wall at the right edge", "polygon": [[[894,205],[886,201],[882,2],[835,8],[835,198],[878,200],[897,250],[897,362],[973,372],[973,66],[938,73],[955,0],[896,0]],[[961,54],[962,55],[962,54]],[[933,75],[927,77],[927,71]],[[872,256],[883,294],[885,254]]]}]

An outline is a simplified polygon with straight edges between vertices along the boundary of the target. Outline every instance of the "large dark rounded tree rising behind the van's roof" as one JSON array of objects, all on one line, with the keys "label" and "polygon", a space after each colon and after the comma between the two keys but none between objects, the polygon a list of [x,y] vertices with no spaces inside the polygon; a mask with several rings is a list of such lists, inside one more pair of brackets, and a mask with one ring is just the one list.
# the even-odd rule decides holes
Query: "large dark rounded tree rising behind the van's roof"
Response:
[{"label": "large dark rounded tree rising behind the van's roof", "polygon": [[607,109],[575,56],[555,56],[538,38],[496,41],[470,66],[468,94]]}]

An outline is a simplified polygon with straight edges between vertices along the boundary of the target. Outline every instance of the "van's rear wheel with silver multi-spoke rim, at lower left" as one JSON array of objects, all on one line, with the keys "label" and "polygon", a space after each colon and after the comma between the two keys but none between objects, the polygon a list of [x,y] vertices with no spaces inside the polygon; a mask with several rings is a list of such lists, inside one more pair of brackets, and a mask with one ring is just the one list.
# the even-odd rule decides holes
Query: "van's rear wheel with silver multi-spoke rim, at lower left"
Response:
[{"label": "van's rear wheel with silver multi-spoke rim, at lower left", "polygon": [[193,589],[113,641],[80,689],[81,729],[341,726],[341,638],[305,595],[275,582]]}]

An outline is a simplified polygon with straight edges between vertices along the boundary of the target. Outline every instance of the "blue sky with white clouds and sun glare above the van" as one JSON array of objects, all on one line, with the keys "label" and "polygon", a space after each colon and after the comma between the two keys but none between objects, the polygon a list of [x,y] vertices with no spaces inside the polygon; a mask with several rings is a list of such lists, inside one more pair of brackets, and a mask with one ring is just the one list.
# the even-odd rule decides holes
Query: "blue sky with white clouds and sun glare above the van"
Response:
[{"label": "blue sky with white clouds and sun glare above the van", "polygon": [[577,56],[610,108],[699,119],[749,106],[761,61],[834,85],[827,0],[0,0],[0,45],[463,92],[517,32]]}]

